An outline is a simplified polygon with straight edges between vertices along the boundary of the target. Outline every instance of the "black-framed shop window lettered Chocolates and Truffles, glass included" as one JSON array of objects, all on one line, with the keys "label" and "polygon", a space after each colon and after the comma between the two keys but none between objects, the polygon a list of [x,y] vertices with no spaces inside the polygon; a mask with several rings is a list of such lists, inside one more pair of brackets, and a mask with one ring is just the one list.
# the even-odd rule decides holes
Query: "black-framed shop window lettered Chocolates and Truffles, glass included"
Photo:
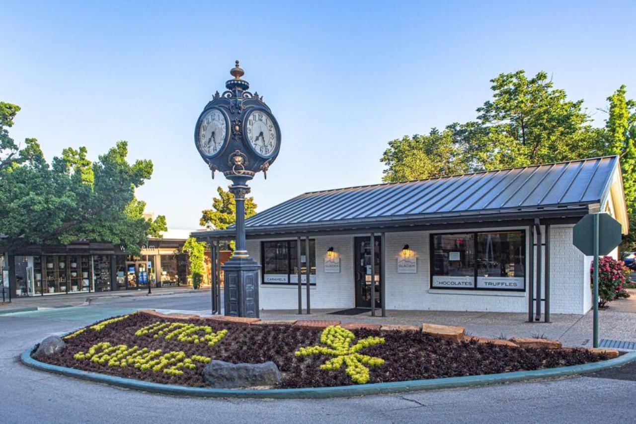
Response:
[{"label": "black-framed shop window lettered Chocolates and Truffles, glass included", "polygon": [[525,232],[431,235],[434,289],[525,290]]}]

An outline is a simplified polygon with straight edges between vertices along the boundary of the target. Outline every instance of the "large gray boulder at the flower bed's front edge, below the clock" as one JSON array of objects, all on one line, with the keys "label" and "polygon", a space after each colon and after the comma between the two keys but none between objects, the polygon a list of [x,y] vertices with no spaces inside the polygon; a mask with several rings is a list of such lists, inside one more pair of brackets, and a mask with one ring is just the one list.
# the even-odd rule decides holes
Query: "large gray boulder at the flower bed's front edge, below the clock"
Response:
[{"label": "large gray boulder at the flower bed's front edge, below the clock", "polygon": [[273,386],[280,383],[280,371],[273,362],[232,364],[213,360],[203,369],[205,383],[214,388]]}]

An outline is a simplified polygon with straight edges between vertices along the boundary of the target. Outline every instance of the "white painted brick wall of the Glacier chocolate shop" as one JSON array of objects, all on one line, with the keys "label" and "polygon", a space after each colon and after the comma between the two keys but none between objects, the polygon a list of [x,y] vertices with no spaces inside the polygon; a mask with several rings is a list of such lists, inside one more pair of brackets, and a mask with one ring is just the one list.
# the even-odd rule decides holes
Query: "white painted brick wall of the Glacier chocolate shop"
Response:
[{"label": "white painted brick wall of the Glacier chocolate shop", "polygon": [[[488,231],[492,229],[476,229]],[[526,229],[513,228],[506,229]],[[445,231],[451,232],[452,228]],[[465,229],[462,231],[473,231]],[[544,228],[542,228],[544,231]],[[526,292],[458,291],[429,289],[428,231],[386,233],[386,307],[393,310],[452,310],[527,312]],[[317,236],[316,285],[311,287],[312,308],[352,308],[355,306],[353,250],[356,235]],[[360,234],[360,236],[366,236]],[[572,245],[572,226],[551,227],[550,301],[551,313],[583,314],[591,307],[589,285],[590,258]],[[529,236],[526,234],[527,252]],[[397,256],[404,244],[417,256],[417,273],[398,274]],[[247,240],[247,250],[260,262],[261,240]],[[324,256],[333,247],[340,256],[340,273],[324,273]],[[536,273],[535,273],[536,274]],[[526,284],[527,285],[527,284]],[[543,289],[543,287],[542,287]],[[303,287],[303,308],[306,307],[306,287]],[[261,284],[260,306],[266,310],[298,308],[296,285]],[[543,297],[543,296],[542,296]],[[542,312],[544,304],[542,303]]]}]

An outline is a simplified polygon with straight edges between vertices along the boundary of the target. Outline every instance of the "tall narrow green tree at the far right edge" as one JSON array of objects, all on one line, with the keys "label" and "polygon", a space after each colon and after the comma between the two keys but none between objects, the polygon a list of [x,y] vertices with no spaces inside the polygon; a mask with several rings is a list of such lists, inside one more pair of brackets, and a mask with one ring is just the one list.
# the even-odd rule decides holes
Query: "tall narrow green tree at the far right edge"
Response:
[{"label": "tall narrow green tree at the far right edge", "polygon": [[609,116],[605,121],[605,137],[608,154],[621,156],[621,172],[625,202],[630,218],[630,234],[624,247],[636,245],[636,102],[627,100],[625,85],[621,85],[610,97]]}]

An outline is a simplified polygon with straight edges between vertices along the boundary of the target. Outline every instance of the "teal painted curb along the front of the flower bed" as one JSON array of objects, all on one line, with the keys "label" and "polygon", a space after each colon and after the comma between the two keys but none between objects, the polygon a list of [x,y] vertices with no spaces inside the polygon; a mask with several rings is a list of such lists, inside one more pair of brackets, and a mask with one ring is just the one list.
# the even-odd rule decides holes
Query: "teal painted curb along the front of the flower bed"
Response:
[{"label": "teal painted curb along the front of the flower bed", "polygon": [[481,376],[434,378],[431,380],[394,381],[392,383],[373,383],[355,386],[336,387],[307,387],[307,388],[277,388],[277,389],[224,389],[186,387],[150,383],[149,381],[121,378],[106,374],[91,373],[79,369],[60,367],[39,362],[31,357],[33,348],[25,350],[20,359],[22,363],[41,371],[62,374],[82,380],[106,383],[109,385],[144,390],[145,392],[162,393],[165,395],[196,396],[196,397],[251,397],[261,399],[316,399],[324,397],[346,397],[359,395],[378,395],[382,393],[417,392],[442,388],[459,388],[482,386],[497,383],[511,383],[513,381],[537,380],[540,378],[555,378],[585,374],[602,369],[618,367],[636,360],[636,352],[626,353],[618,358],[608,359],[590,364],[558,367],[551,369],[537,369],[535,371],[515,371],[513,373],[488,374]]}]

